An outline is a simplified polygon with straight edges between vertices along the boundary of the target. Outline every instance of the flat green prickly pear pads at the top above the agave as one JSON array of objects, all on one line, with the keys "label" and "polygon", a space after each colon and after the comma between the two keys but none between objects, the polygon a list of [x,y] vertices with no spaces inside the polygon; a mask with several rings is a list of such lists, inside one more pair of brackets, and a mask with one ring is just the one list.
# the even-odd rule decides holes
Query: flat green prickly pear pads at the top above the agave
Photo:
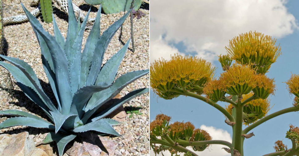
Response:
[{"label": "flat green prickly pear pads at the top above the agave", "polygon": [[[102,0],[102,8],[106,14],[129,11],[132,0]],[[142,0],[134,0],[133,9],[137,11],[141,6]]]}]

